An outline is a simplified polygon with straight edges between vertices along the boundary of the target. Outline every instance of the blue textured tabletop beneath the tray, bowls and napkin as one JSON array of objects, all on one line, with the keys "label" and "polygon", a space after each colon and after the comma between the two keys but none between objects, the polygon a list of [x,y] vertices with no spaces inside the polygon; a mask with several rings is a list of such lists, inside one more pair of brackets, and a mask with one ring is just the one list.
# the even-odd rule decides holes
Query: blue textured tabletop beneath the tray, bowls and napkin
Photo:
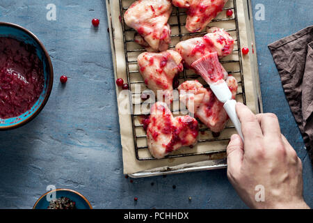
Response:
[{"label": "blue textured tabletop beneath the tray, bowls and napkin", "polygon": [[[46,20],[48,3],[56,5],[56,21]],[[304,196],[313,207],[310,159],[267,49],[313,24],[312,0],[252,0],[252,8],[257,3],[265,6],[265,20],[255,21],[264,112],[278,115],[282,132],[303,160]],[[99,29],[91,26],[94,17],[101,20]],[[0,208],[32,208],[47,185],[77,190],[94,208],[247,208],[225,169],[134,183],[124,178],[104,0],[0,0],[0,21],[35,33],[55,72],[40,115],[22,128],[0,132]],[[59,83],[61,75],[69,77],[66,86]]]}]

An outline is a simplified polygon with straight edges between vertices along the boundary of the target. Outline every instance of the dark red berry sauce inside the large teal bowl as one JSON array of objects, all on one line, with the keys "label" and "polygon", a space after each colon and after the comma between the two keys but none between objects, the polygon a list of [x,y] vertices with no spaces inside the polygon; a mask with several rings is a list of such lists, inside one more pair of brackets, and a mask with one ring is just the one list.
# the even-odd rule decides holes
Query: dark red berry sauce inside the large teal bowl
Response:
[{"label": "dark red berry sauce inside the large teal bowl", "polygon": [[31,109],[44,84],[35,47],[0,37],[0,118],[13,118]]}]

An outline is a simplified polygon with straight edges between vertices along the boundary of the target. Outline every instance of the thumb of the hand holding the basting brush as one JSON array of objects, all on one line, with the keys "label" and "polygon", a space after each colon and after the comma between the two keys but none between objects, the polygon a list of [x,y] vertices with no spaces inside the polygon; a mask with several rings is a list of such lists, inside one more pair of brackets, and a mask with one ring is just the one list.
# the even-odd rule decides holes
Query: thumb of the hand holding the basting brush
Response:
[{"label": "thumb of the hand holding the basting brush", "polygon": [[233,173],[241,168],[243,160],[243,141],[238,134],[233,134],[227,146],[228,171]]}]

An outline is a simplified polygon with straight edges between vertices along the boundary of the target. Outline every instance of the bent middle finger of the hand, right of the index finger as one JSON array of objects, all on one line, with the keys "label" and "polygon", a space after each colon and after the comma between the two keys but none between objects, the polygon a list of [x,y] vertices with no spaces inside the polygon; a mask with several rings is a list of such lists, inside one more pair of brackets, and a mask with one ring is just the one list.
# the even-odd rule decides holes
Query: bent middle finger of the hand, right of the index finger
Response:
[{"label": "bent middle finger of the hand, right of the index finger", "polygon": [[266,113],[266,114],[257,114],[257,120],[261,125],[262,133],[264,137],[268,139],[280,139],[280,123],[275,114]]}]

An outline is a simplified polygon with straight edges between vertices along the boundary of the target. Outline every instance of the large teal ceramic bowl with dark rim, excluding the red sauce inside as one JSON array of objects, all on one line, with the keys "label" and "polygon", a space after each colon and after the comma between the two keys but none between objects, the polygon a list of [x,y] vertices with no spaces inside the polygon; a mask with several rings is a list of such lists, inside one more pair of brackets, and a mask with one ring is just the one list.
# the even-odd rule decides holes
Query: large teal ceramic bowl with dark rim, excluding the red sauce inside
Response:
[{"label": "large teal ceramic bowl with dark rim, excluding the red sauce inside", "polygon": [[18,128],[33,120],[33,118],[35,118],[35,116],[40,113],[43,107],[45,107],[52,90],[54,71],[47,50],[45,49],[44,45],[42,45],[40,40],[33,33],[31,33],[31,31],[16,24],[0,22],[0,36],[15,38],[16,40],[22,41],[26,44],[33,45],[36,49],[36,54],[38,55],[38,58],[40,59],[40,61],[42,61],[45,76],[44,89],[37,102],[35,102],[35,104],[29,111],[14,118],[0,118],[0,130],[9,130],[13,128]]}]

